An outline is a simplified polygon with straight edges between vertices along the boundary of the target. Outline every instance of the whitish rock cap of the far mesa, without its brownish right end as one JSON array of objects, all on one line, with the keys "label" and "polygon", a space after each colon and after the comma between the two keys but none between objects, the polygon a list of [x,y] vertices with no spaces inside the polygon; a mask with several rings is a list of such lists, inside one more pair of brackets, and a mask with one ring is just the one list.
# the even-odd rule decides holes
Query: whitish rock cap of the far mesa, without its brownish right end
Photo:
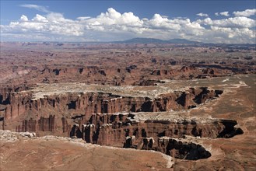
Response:
[{"label": "whitish rock cap of the far mesa, without its brownish right end", "polygon": [[[184,88],[183,88],[184,89]],[[176,89],[177,90],[177,89]],[[179,89],[181,90],[181,88]],[[65,93],[105,92],[119,96],[135,96],[154,98],[160,94],[174,92],[167,85],[163,86],[100,86],[86,85],[85,83],[53,83],[37,84],[32,90],[33,99],[44,98],[44,96],[61,95]]]}]

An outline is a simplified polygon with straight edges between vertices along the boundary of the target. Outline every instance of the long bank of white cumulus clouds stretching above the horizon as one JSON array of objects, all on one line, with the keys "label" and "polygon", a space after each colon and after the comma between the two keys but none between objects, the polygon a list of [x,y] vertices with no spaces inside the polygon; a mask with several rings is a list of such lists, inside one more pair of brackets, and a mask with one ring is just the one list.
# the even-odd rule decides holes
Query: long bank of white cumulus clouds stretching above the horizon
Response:
[{"label": "long bank of white cumulus clouds stretching above the horizon", "polygon": [[79,16],[76,19],[67,19],[58,12],[37,14],[32,19],[22,15],[9,25],[1,25],[1,40],[110,41],[152,37],[163,40],[185,38],[206,43],[256,43],[255,19],[240,15],[229,17],[229,12],[216,12],[216,16],[226,16],[225,19],[212,19],[204,13],[197,16],[205,19],[168,19],[161,14],[141,19],[133,12],[121,13],[113,8],[95,17]]}]

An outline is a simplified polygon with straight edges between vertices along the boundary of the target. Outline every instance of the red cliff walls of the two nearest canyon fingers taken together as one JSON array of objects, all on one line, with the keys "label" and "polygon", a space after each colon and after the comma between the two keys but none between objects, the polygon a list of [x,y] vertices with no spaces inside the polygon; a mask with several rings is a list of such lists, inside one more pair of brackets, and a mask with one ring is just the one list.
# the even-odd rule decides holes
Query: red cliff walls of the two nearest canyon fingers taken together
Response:
[{"label": "red cliff walls of the two nearest canyon fingers taken together", "polygon": [[93,114],[89,120],[74,124],[70,137],[98,145],[154,150],[177,159],[197,160],[207,159],[211,153],[183,138],[231,138],[243,134],[239,127],[234,127],[235,120],[139,121],[134,116],[132,113]]}]

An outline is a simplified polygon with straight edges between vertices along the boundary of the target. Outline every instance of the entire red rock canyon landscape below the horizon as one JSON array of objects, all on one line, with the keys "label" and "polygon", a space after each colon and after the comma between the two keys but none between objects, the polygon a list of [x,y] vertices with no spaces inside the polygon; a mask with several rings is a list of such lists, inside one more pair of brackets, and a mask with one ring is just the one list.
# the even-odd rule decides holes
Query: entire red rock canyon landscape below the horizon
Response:
[{"label": "entire red rock canyon landscape below the horizon", "polygon": [[251,51],[47,46],[2,44],[0,169],[255,169]]}]

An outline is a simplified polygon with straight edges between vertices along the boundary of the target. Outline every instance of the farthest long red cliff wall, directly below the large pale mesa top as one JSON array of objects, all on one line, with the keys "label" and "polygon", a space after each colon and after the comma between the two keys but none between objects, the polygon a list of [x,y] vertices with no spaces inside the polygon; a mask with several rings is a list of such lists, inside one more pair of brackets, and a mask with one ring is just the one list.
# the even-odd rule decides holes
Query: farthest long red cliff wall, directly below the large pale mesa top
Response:
[{"label": "farthest long red cliff wall, directly below the large pale mesa top", "polygon": [[205,103],[207,99],[214,99],[222,94],[221,90],[188,89],[187,92],[172,92],[158,98],[118,96],[111,93],[87,92],[66,93],[63,96],[44,96],[33,99],[31,92],[9,92],[2,104],[5,119],[15,118],[29,110],[39,111],[44,108],[53,110],[83,111],[86,117],[91,113],[117,112],[159,112],[167,110],[188,109],[197,104]]}]

